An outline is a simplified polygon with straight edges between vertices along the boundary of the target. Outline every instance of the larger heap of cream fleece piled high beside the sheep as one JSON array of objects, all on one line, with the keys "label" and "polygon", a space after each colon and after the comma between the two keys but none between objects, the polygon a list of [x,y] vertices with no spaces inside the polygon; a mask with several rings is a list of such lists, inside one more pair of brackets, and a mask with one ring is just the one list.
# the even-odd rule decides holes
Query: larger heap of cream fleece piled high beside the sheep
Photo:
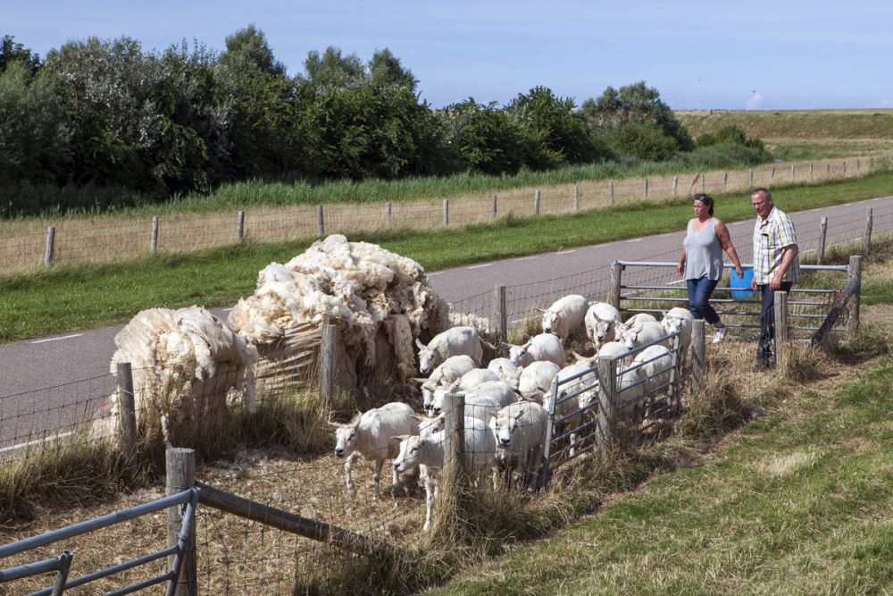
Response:
[{"label": "larger heap of cream fleece piled high beside the sheep", "polygon": [[447,313],[420,264],[335,234],[286,264],[267,265],[255,293],[232,309],[230,326],[263,353],[296,326],[328,321],[338,325],[339,344],[353,363],[371,367],[393,357],[410,377],[413,340],[446,329]]}]

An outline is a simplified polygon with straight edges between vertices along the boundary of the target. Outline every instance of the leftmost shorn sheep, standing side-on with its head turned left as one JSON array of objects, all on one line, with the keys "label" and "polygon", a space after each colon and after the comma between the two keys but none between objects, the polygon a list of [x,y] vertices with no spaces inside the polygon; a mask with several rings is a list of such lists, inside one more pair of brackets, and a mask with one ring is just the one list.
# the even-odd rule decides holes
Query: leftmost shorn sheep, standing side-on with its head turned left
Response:
[{"label": "leftmost shorn sheep, standing side-on with its head turned left", "polygon": [[[352,476],[354,459],[363,456],[363,459],[375,461],[375,471],[372,473],[372,480],[375,483],[373,498],[379,500],[381,467],[385,459],[396,457],[399,449],[399,441],[391,437],[396,434],[419,432],[419,421],[413,408],[395,401],[357,415],[348,424],[330,423],[330,425],[335,427],[335,456],[339,459],[347,458],[344,465],[347,493],[351,498],[356,495]],[[391,496],[394,496],[396,483],[397,473],[394,470]]]}]

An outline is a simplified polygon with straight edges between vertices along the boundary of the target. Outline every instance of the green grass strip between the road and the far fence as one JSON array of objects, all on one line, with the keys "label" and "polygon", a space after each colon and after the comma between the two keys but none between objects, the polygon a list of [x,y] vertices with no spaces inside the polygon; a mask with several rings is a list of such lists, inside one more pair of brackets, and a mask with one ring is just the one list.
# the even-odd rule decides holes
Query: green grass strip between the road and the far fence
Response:
[{"label": "green grass strip between the road and the far fence", "polygon": [[[893,173],[822,186],[784,189],[776,200],[787,211],[813,209],[893,194]],[[747,197],[718,197],[726,222],[753,217]],[[532,255],[683,229],[688,199],[641,202],[568,216],[507,216],[488,225],[448,231],[395,231],[351,237],[410,256],[427,270],[498,258]],[[121,323],[150,306],[179,308],[233,303],[255,287],[256,273],[305,250],[296,243],[245,245],[124,264],[62,266],[0,278],[0,341]]]}]

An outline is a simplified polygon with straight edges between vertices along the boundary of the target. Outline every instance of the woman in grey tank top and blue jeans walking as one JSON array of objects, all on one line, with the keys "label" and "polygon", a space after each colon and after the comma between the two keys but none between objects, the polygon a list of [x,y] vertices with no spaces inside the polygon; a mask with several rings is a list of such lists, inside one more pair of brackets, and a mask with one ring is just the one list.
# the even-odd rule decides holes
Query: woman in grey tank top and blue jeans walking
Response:
[{"label": "woman in grey tank top and blue jeans walking", "polygon": [[714,217],[714,198],[695,195],[695,217],[689,221],[688,233],[682,243],[682,253],[676,273],[685,275],[689,286],[689,310],[696,319],[705,319],[714,326],[714,343],[725,339],[729,330],[720,321],[710,295],[722,277],[722,251],[735,265],[735,273],[744,276],[741,262],[729,237],[725,223]]}]

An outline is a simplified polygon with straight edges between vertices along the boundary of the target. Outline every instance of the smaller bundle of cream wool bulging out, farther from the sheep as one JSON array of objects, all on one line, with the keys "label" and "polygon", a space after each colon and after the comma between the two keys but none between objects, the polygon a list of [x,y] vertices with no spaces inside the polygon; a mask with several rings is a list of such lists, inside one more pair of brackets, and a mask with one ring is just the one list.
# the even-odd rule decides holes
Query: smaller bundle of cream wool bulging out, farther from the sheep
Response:
[{"label": "smaller bundle of cream wool bulging out, farther from the sheep", "polygon": [[[257,350],[200,306],[140,311],[114,343],[112,373],[119,363],[130,364],[138,420],[149,432],[160,430],[168,444],[172,427],[194,432],[233,399],[255,411]],[[120,410],[115,390],[96,419],[96,431],[117,432]]]}]

